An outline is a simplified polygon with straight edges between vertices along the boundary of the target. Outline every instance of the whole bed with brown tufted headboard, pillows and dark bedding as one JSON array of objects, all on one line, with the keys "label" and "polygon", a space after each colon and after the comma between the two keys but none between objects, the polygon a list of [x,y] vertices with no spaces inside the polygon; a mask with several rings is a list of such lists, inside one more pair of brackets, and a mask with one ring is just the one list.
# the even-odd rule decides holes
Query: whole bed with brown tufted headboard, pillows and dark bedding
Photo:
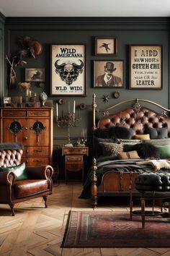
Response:
[{"label": "whole bed with brown tufted headboard, pillows and dark bedding", "polygon": [[[141,103],[146,103],[146,106],[142,106]],[[129,104],[130,106],[127,107]],[[150,104],[154,108],[161,109],[161,114],[148,108]],[[126,105],[125,108],[122,107],[123,105]],[[121,110],[116,112],[116,108],[121,108]],[[146,158],[147,161],[148,158],[160,158],[161,150],[166,152],[165,155],[161,154],[161,159],[170,158],[170,118],[168,116],[170,110],[145,99],[128,99],[99,110],[95,94],[93,95],[92,109],[92,129],[95,139],[94,158],[80,197],[91,197],[92,206],[96,208],[97,201],[101,196],[127,196],[130,191],[133,192],[133,195],[138,195],[138,192],[135,191],[136,176],[144,171],[154,171],[153,166],[141,163],[146,161]],[[102,117],[97,119],[97,115],[100,114],[103,114]],[[117,135],[117,130],[120,132],[117,136],[110,137],[110,129],[114,130],[114,136]],[[129,137],[124,129],[128,130]],[[102,153],[106,152],[106,148],[103,147],[104,143],[120,148],[120,152],[115,154],[114,148],[112,155],[97,155],[95,148],[101,145]],[[144,146],[144,149],[142,148],[144,156],[140,153],[141,146]],[[131,148],[127,149],[127,147]],[[157,151],[154,152],[154,150]],[[130,152],[133,152],[131,157],[128,155]],[[135,155],[133,155],[134,153]],[[169,168],[166,170],[164,166],[162,169],[169,171]]]}]

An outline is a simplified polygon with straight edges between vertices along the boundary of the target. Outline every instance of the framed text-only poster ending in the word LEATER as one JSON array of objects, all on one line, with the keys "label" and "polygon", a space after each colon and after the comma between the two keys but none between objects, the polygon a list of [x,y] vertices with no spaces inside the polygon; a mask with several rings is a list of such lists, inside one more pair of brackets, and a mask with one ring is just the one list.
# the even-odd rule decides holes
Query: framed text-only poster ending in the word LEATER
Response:
[{"label": "framed text-only poster ending in the word LEATER", "polygon": [[162,46],[130,46],[130,89],[162,89]]}]

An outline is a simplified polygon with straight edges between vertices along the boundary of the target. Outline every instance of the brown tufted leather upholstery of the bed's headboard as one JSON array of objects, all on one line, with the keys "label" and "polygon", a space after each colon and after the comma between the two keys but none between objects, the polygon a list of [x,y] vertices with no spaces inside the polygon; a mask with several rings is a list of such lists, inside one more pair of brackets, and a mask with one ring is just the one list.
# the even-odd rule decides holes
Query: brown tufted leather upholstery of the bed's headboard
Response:
[{"label": "brown tufted leather upholstery of the bed's headboard", "polygon": [[136,134],[143,134],[146,127],[169,127],[170,137],[170,119],[162,114],[158,114],[149,108],[140,108],[135,111],[134,108],[126,108],[109,116],[105,116],[98,122],[98,128],[120,125],[122,127],[134,128]]}]

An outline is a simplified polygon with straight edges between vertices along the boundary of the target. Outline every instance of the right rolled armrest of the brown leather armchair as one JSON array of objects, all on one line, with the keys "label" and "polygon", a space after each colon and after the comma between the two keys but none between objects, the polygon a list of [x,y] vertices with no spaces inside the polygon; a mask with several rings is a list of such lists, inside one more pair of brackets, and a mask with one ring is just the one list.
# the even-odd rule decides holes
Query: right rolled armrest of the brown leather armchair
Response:
[{"label": "right rolled armrest of the brown leather armchair", "polygon": [[53,176],[52,166],[26,166],[26,170],[32,179],[51,179]]}]

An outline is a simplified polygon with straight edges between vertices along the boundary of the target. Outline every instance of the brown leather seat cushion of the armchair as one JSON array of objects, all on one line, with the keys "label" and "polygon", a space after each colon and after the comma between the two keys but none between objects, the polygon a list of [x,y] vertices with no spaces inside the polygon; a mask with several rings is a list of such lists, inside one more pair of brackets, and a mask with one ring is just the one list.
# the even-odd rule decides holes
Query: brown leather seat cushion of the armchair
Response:
[{"label": "brown leather seat cushion of the armchair", "polygon": [[37,195],[48,190],[46,179],[27,179],[14,182],[14,195],[16,198]]}]

